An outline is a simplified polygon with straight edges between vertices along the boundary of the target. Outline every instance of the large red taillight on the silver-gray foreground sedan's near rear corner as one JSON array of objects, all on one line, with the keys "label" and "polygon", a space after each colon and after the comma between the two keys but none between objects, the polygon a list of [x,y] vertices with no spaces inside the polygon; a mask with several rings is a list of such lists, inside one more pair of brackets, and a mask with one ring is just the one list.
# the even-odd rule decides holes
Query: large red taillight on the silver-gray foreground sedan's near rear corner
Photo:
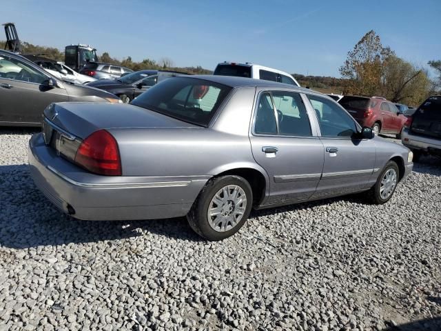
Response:
[{"label": "large red taillight on the silver-gray foreground sedan's near rear corner", "polygon": [[106,130],[95,131],[83,140],[75,162],[96,174],[121,176],[122,173],[118,143]]}]

